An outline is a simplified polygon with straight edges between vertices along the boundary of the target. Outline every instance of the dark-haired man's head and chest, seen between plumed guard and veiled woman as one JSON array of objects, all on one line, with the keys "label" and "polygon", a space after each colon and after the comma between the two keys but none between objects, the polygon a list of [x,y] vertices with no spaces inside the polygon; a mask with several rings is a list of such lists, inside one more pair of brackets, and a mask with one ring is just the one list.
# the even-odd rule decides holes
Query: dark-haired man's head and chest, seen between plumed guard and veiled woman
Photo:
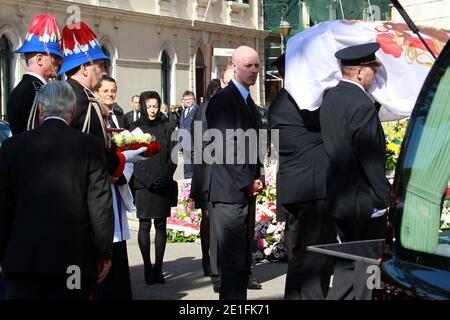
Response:
[{"label": "dark-haired man's head and chest, seen between plumed guard and veiled woman", "polygon": [[102,78],[100,88],[98,89],[98,99],[109,110],[108,126],[110,128],[125,128],[126,119],[123,109],[116,103],[117,83],[112,77]]}]

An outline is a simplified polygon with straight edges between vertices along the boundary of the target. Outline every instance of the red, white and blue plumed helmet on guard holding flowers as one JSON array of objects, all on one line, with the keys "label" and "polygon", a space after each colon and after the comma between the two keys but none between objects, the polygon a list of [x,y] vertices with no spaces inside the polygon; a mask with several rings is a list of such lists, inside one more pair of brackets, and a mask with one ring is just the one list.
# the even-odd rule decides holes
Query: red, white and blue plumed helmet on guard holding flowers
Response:
[{"label": "red, white and blue plumed helmet on guard holding flowers", "polygon": [[58,75],[85,63],[109,60],[100,47],[97,35],[82,21],[63,28],[62,49],[64,61]]}]

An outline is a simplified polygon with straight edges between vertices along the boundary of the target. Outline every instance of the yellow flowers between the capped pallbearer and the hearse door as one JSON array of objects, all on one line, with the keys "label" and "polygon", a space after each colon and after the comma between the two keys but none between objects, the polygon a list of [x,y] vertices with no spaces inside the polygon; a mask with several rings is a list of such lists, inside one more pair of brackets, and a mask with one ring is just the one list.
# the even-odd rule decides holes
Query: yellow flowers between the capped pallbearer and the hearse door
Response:
[{"label": "yellow flowers between the capped pallbearer and the hearse door", "polygon": [[397,166],[400,147],[405,136],[408,120],[389,121],[383,123],[386,137],[386,170],[394,171]]}]

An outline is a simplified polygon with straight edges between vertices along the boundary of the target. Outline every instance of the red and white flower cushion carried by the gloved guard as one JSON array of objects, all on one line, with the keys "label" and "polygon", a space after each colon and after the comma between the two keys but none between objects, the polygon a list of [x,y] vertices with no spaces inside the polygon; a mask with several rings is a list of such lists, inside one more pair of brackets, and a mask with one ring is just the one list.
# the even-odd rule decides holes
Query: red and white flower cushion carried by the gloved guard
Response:
[{"label": "red and white flower cushion carried by the gloved guard", "polygon": [[156,138],[150,133],[143,133],[139,128],[132,132],[128,130],[121,132],[112,131],[111,142],[113,150],[120,152],[147,147],[147,151],[142,154],[144,157],[151,157],[155,153],[158,153],[160,149]]}]

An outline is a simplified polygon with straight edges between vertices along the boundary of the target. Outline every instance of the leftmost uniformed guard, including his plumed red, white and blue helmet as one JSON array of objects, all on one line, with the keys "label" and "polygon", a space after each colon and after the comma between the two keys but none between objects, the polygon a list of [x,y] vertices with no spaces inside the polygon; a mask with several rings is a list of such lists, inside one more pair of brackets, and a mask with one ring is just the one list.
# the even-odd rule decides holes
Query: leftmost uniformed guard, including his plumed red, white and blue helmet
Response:
[{"label": "leftmost uniformed guard, including his plumed red, white and blue helmet", "polygon": [[[39,29],[42,28],[42,29]],[[62,62],[62,53],[55,34],[57,31],[55,17],[40,14],[34,17],[28,28],[28,35],[16,53],[25,55],[26,69],[22,80],[11,92],[8,99],[7,114],[12,134],[31,130],[39,124],[36,93],[56,77]],[[41,34],[43,33],[43,34]],[[44,43],[45,42],[45,43]]]}]

